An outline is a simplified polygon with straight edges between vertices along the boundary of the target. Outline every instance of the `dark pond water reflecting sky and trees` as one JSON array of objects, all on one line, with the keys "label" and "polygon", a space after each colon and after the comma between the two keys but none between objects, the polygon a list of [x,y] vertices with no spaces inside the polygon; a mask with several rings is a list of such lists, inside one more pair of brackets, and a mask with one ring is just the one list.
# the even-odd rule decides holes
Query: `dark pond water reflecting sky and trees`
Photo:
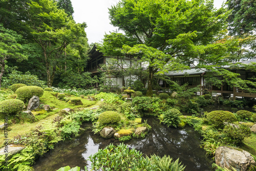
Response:
[{"label": "dark pond water reflecting sky and trees", "polygon": [[[132,139],[125,144],[135,148],[144,155],[156,154],[159,156],[170,155],[175,160],[180,159],[186,165],[187,171],[212,170],[212,160],[206,157],[203,148],[200,148],[200,134],[193,127],[186,126],[183,129],[166,127],[159,123],[157,118],[146,118],[152,130],[145,138]],[[99,148],[113,143],[119,144],[114,138],[106,140],[94,135],[90,129],[91,124],[84,125],[84,131],[76,139],[58,143],[54,149],[44,157],[40,157],[34,165],[35,170],[55,171],[60,167],[69,165],[71,168],[90,165],[87,158],[95,154]]]}]

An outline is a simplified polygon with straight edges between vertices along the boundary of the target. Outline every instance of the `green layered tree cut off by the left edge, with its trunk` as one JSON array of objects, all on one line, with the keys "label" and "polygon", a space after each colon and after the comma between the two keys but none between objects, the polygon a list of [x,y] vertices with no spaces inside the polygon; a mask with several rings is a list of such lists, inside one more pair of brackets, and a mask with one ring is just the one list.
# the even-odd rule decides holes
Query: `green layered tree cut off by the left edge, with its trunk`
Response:
[{"label": "green layered tree cut off by the left edge, with its trunk", "polygon": [[27,57],[20,51],[22,46],[18,43],[22,36],[17,34],[15,31],[5,29],[3,24],[0,24],[0,89],[2,83],[2,77],[5,72],[5,62],[9,58],[15,58],[18,61],[22,61]]}]

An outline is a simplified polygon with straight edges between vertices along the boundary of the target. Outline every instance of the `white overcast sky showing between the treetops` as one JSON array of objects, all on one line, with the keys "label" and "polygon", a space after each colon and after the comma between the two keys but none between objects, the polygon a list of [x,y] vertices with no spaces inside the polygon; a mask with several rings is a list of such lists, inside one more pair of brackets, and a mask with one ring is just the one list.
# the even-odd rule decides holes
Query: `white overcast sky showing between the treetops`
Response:
[{"label": "white overcast sky showing between the treetops", "polygon": [[[76,23],[87,23],[86,33],[89,44],[100,42],[105,33],[116,30],[110,24],[109,10],[119,0],[71,0]],[[215,7],[220,8],[224,0],[215,0]]]}]

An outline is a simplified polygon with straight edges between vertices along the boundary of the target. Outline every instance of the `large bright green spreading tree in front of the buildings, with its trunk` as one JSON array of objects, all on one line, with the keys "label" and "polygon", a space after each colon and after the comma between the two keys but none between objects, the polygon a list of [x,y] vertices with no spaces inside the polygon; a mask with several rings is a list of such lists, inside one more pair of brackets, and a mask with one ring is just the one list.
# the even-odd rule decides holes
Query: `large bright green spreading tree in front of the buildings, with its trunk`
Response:
[{"label": "large bright green spreading tree in front of the buildings, with its trunk", "polygon": [[173,65],[178,58],[190,60],[205,53],[225,27],[225,12],[215,10],[208,0],[122,0],[109,9],[111,24],[140,44],[124,46],[124,52],[149,63],[149,96],[156,73],[166,71],[166,66],[178,69]]}]

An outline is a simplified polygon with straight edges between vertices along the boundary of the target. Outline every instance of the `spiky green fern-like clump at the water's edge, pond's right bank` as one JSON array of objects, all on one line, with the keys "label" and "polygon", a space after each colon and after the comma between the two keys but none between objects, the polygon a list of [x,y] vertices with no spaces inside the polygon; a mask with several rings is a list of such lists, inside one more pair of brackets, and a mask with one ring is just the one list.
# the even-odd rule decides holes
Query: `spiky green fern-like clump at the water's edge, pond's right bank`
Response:
[{"label": "spiky green fern-like clump at the water's edge, pond's right bank", "polygon": [[177,127],[181,121],[182,114],[178,109],[170,109],[163,113],[163,123],[165,123],[167,126],[174,126]]}]

